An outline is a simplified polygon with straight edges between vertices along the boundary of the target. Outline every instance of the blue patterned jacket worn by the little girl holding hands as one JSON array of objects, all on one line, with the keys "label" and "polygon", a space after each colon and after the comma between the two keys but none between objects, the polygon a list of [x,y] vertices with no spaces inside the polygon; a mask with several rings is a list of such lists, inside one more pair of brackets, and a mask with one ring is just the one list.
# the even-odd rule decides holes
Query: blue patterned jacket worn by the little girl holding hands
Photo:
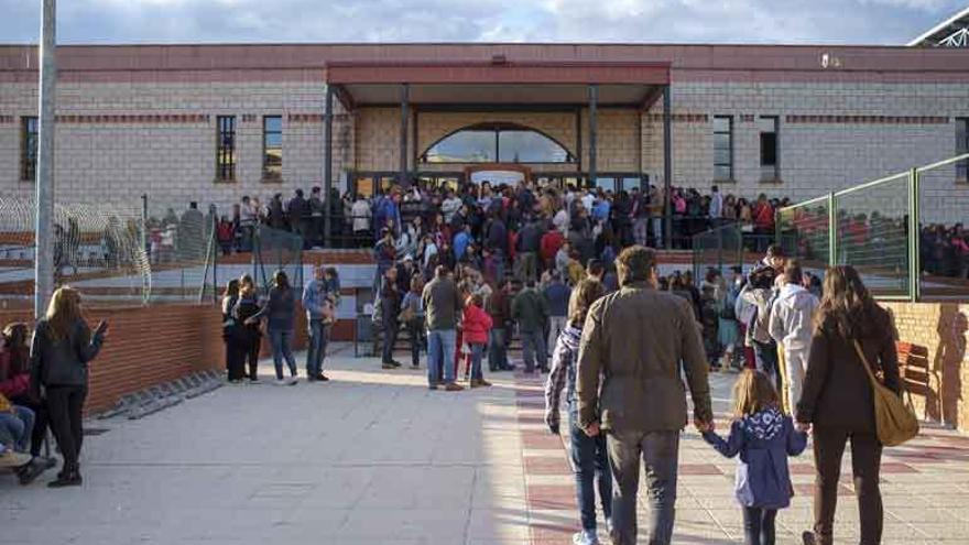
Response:
[{"label": "blue patterned jacket worn by the little girl holding hands", "polygon": [[704,440],[727,458],[740,455],[733,491],[741,505],[783,509],[791,504],[794,488],[787,456],[804,451],[807,434],[794,429],[790,416],[767,407],[733,421],[726,442],[714,432],[705,432]]}]

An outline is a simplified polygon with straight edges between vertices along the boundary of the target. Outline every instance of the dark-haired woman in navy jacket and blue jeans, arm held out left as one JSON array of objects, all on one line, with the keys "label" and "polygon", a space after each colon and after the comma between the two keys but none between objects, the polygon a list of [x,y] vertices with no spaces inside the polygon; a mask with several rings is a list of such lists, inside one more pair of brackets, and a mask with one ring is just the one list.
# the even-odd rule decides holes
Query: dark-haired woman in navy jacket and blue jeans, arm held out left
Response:
[{"label": "dark-haired woman in navy jacket and blue jeans, arm held out left", "polygon": [[[276,384],[295,384],[296,358],[293,357],[293,323],[296,315],[296,296],[290,286],[290,277],[283,271],[273,274],[273,286],[269,291],[269,302],[246,324],[258,324],[266,318],[269,344],[272,347],[273,364],[276,369]],[[290,368],[290,380],[283,381],[283,360]]]}]

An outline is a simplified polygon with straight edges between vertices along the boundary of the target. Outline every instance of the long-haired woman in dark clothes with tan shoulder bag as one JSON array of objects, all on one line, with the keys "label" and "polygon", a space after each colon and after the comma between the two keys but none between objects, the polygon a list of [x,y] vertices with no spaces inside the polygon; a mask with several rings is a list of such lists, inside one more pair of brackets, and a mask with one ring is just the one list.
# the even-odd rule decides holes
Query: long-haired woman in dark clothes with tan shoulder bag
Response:
[{"label": "long-haired woman in dark clothes with tan shoulder bag", "polygon": [[886,388],[900,392],[893,330],[889,313],[878,306],[853,268],[828,269],[824,297],[814,317],[810,356],[797,404],[798,429],[806,432],[814,426],[817,471],[815,524],[814,532],[804,533],[807,544],[834,543],[841,457],[849,440],[861,517],[860,543],[881,542],[883,510],[879,467],[882,445],[875,428],[874,394],[862,366],[870,366],[872,372],[883,377]]}]

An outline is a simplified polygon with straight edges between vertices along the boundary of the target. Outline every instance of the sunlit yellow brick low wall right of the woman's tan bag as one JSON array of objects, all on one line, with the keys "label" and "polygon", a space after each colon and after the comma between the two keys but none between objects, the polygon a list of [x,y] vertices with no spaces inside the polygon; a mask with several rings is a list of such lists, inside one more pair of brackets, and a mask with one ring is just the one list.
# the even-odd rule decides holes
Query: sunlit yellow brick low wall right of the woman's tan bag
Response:
[{"label": "sunlit yellow brick low wall right of the woman's tan bag", "polygon": [[924,348],[928,392],[913,395],[921,416],[969,432],[969,304],[883,303],[899,340]]}]

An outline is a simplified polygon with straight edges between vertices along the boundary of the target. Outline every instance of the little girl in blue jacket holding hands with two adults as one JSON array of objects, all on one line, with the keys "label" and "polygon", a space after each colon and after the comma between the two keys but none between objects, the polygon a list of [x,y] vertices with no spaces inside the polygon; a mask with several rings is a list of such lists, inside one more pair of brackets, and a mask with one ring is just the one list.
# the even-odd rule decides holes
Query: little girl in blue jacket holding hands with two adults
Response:
[{"label": "little girl in blue jacket holding hands with two adults", "polygon": [[777,510],[794,495],[787,456],[804,451],[807,434],[794,428],[771,380],[753,369],[741,372],[733,386],[733,417],[726,442],[711,428],[704,439],[727,458],[740,455],[734,492],[743,509],[745,543],[773,545]]}]

